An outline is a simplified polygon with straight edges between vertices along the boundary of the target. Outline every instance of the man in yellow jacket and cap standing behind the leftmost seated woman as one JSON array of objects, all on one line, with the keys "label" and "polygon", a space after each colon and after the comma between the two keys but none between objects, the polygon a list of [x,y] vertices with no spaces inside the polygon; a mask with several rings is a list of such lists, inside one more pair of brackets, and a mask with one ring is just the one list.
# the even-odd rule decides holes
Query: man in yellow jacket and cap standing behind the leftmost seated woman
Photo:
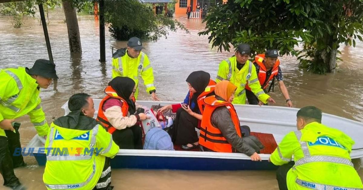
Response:
[{"label": "man in yellow jacket and cap standing behind the leftmost seated woman", "polygon": [[156,96],[154,74],[147,55],[142,52],[142,42],[132,37],[127,42],[127,48],[117,50],[112,57],[112,78],[117,76],[129,77],[136,83],[135,98],[139,94],[139,78],[142,77],[146,92],[150,93],[153,101],[160,101]]}]

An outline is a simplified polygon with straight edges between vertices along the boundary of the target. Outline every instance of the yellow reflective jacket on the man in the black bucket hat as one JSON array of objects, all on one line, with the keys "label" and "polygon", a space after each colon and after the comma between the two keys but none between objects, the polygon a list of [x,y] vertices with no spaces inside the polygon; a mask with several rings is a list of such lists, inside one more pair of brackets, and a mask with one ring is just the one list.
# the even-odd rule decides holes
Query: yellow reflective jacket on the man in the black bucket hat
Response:
[{"label": "yellow reflective jacket on the man in the black bucket hat", "polygon": [[[49,126],[40,105],[40,88],[24,67],[0,70],[0,121],[30,117],[39,136],[48,134]],[[5,131],[0,129],[0,136]]]}]

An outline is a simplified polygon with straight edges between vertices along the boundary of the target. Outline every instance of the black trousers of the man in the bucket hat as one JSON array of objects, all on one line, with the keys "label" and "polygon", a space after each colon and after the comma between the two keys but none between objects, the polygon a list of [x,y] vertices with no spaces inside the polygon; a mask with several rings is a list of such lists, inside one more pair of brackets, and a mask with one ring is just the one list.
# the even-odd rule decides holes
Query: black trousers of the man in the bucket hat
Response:
[{"label": "black trousers of the man in the bucket hat", "polygon": [[[14,132],[12,133],[14,134]],[[17,133],[19,134],[18,131]],[[8,140],[7,137],[0,136],[0,173],[4,179],[4,186],[15,188],[20,185],[20,182],[14,173],[14,162],[12,159],[14,151],[11,152],[9,150],[10,142],[8,143]]]}]

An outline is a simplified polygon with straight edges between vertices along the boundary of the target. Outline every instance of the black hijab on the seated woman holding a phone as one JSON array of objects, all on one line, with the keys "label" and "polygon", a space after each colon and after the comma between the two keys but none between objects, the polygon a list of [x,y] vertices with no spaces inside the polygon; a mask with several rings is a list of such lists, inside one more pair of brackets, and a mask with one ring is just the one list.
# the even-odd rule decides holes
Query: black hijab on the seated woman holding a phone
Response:
[{"label": "black hijab on the seated woman holding a phone", "polygon": [[194,72],[190,73],[187,80],[185,80],[188,83],[190,83],[190,85],[197,91],[196,93],[193,94],[192,99],[191,99],[191,102],[195,103],[195,108],[198,108],[198,104],[197,104],[198,96],[202,92],[204,92],[205,87],[208,86],[210,79],[211,79],[211,75],[209,75],[209,73],[204,72],[204,71],[194,71]]}]

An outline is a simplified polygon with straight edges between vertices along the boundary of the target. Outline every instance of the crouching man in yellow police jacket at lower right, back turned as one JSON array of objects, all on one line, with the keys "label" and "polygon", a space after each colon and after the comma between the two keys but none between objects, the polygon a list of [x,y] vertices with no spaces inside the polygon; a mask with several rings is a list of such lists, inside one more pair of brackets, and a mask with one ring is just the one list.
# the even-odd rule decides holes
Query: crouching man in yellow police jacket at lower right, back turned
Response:
[{"label": "crouching man in yellow police jacket at lower right, back turned", "polygon": [[[297,112],[298,131],[287,134],[272,153],[280,190],[358,190],[362,181],[350,152],[354,141],[342,131],[321,124],[321,110],[306,106]],[[288,164],[294,156],[295,165]]]}]

